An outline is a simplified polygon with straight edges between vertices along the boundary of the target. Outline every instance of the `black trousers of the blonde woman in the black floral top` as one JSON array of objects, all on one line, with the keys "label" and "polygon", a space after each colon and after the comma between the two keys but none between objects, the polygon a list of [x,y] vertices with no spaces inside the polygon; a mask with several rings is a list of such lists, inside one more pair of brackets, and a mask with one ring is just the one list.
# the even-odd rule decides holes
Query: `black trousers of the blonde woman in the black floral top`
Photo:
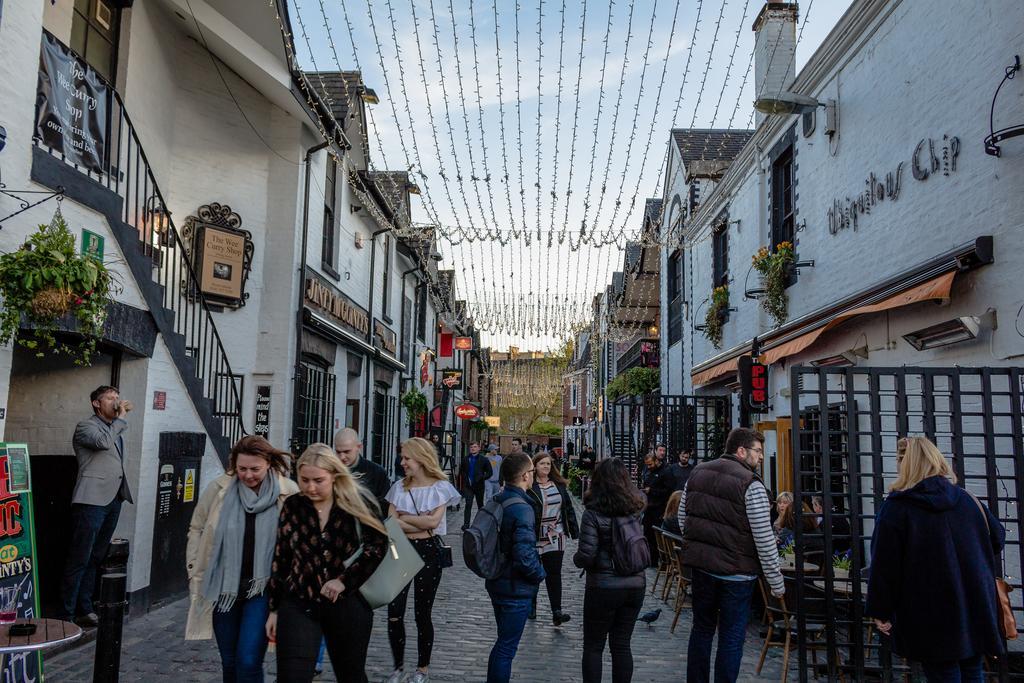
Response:
[{"label": "black trousers of the blonde woman in the black floral top", "polygon": [[313,680],[321,640],[327,640],[336,680],[366,683],[374,610],[358,592],[315,607],[285,598],[278,610],[278,681]]}]

